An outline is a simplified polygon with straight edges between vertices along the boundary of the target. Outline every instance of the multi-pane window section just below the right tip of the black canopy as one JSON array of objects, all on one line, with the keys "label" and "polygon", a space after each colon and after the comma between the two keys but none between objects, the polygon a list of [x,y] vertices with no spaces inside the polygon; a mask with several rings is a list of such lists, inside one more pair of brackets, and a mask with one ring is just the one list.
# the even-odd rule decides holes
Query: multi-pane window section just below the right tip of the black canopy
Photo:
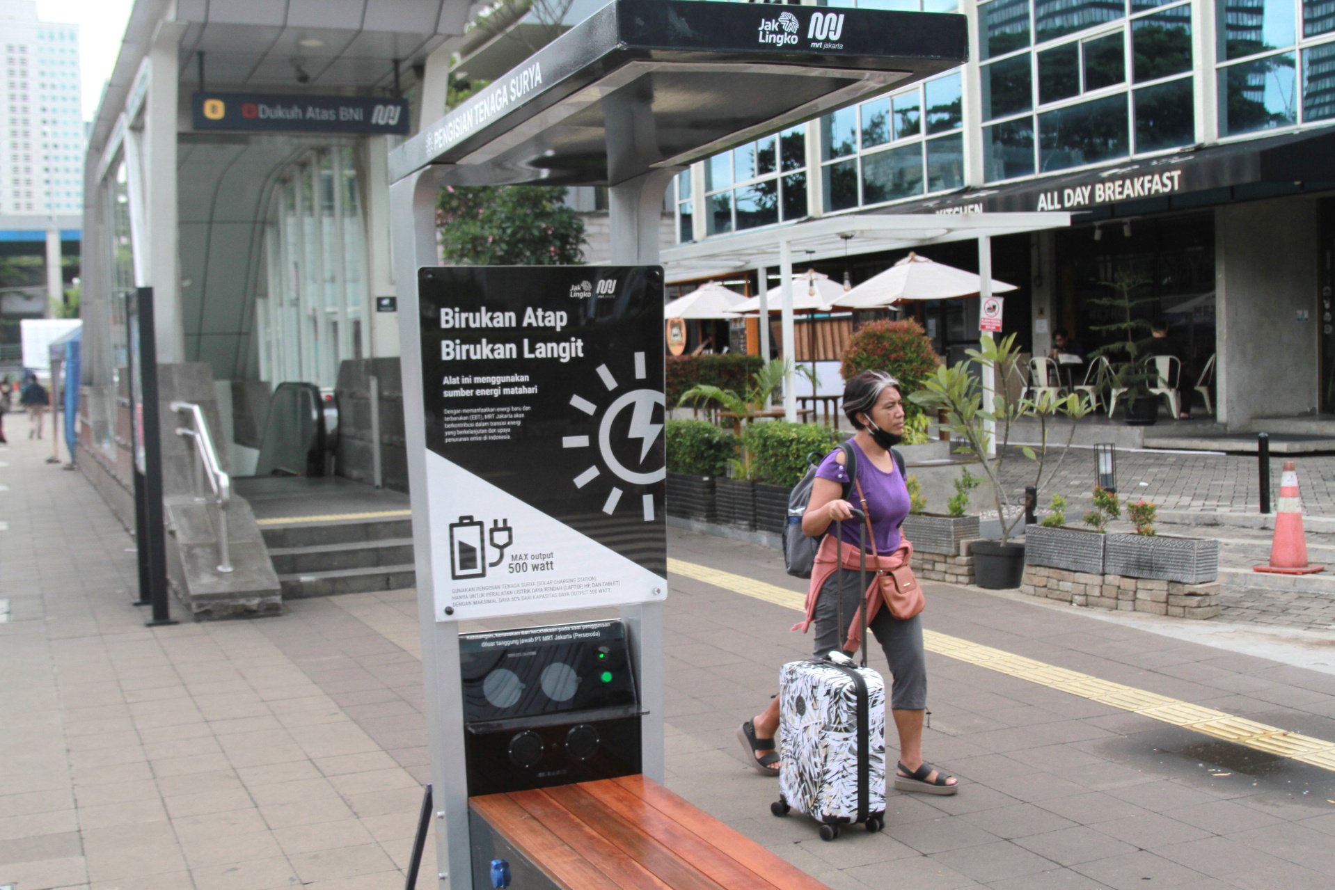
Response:
[{"label": "multi-pane window section just below the right tip of the black canopy", "polygon": [[959,72],[821,119],[825,211],[964,185]]}]

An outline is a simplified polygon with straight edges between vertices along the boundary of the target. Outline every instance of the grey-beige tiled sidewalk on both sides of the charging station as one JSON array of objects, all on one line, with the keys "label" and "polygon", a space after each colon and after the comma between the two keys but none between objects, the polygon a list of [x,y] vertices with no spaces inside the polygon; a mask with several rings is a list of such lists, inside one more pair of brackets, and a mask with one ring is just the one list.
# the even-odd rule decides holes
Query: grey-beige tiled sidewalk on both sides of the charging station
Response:
[{"label": "grey-beige tiled sidewalk on both sides of the charging station", "polygon": [[[146,628],[131,539],[92,487],[36,448],[3,454],[0,883],[402,886],[430,771],[413,591]],[[680,531],[670,546],[802,590],[773,551]],[[892,791],[882,833],[825,843],[805,817],[769,814],[776,783],[734,738],[809,638],[782,606],[670,586],[668,786],[832,887],[1335,883],[1331,773],[937,652],[924,746],[960,794]],[[928,595],[933,631],[1335,743],[1335,674],[1300,666],[1311,659],[975,590]],[[886,670],[878,651],[872,663]],[[434,845],[422,871],[418,886],[435,887]]]}]

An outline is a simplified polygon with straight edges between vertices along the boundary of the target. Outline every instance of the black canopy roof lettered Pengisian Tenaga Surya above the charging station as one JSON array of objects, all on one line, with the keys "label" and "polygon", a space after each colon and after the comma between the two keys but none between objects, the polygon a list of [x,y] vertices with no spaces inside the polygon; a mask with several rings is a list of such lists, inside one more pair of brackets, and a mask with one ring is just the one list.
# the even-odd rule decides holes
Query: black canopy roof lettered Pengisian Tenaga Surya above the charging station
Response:
[{"label": "black canopy roof lettered Pengisian Tenaga Surya above the charging station", "polygon": [[964,16],[614,0],[390,156],[390,179],[617,185],[947,71]]}]

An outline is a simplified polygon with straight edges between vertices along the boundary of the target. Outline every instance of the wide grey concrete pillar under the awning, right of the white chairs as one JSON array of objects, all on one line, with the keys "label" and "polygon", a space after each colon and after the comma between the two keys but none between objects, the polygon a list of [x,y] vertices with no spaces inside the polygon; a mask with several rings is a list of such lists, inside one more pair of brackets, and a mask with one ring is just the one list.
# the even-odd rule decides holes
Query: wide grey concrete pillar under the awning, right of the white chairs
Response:
[{"label": "wide grey concrete pillar under the awning, right of the white chairs", "polygon": [[1219,422],[1230,430],[1316,412],[1316,251],[1312,199],[1215,211],[1216,404]]}]

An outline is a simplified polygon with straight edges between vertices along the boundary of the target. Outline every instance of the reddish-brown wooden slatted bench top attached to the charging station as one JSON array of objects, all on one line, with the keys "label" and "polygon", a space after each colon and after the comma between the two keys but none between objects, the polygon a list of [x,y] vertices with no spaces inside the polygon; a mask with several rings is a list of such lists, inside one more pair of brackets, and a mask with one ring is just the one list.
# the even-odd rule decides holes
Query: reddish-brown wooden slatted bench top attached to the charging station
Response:
[{"label": "reddish-brown wooden slatted bench top attached to the charging station", "polygon": [[[762,801],[756,806],[757,819],[772,818]],[[498,841],[489,855],[509,854],[515,886],[523,869],[530,887],[829,890],[643,775],[489,794],[470,798],[469,809]],[[479,867],[475,861],[474,886],[490,886]]]}]

